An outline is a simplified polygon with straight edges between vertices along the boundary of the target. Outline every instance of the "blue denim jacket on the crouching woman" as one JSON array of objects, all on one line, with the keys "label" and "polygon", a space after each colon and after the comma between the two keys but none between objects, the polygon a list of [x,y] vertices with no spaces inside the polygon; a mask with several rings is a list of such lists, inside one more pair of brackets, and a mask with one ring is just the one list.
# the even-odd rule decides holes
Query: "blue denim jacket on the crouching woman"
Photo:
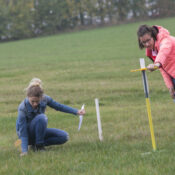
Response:
[{"label": "blue denim jacket on the crouching woman", "polygon": [[16,131],[18,137],[21,139],[22,152],[27,152],[28,150],[28,130],[27,126],[33,120],[33,118],[38,114],[44,114],[46,107],[49,106],[57,111],[71,113],[76,115],[78,110],[72,107],[60,104],[54,101],[51,97],[44,95],[40,101],[37,110],[33,109],[29,103],[28,98],[25,98],[24,101],[18,107],[18,118],[16,121]]}]

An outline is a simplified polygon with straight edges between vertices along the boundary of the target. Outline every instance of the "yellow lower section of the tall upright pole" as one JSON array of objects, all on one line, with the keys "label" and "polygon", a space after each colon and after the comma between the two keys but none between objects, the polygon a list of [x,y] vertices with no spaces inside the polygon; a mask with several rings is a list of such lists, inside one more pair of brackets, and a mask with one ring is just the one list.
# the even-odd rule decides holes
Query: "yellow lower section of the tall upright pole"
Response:
[{"label": "yellow lower section of the tall upright pole", "polygon": [[149,98],[146,98],[146,107],[147,107],[148,120],[149,120],[150,132],[151,132],[152,146],[153,146],[153,150],[156,151],[156,142],[155,142],[155,136],[154,136],[154,128],[153,128],[153,122],[152,122],[152,116],[151,116],[151,106],[150,106]]}]

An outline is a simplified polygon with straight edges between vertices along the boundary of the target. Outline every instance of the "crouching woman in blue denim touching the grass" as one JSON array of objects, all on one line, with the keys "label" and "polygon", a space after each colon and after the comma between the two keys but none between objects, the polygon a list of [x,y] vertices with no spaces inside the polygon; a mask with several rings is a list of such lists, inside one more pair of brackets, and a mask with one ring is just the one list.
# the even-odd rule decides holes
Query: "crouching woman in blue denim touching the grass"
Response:
[{"label": "crouching woman in blue denim touching the grass", "polygon": [[21,156],[28,152],[28,145],[34,150],[44,150],[44,146],[59,145],[68,141],[68,133],[60,129],[47,128],[47,106],[61,112],[84,115],[85,110],[78,110],[60,104],[44,94],[42,82],[33,78],[26,88],[27,97],[18,107],[16,131],[21,139]]}]

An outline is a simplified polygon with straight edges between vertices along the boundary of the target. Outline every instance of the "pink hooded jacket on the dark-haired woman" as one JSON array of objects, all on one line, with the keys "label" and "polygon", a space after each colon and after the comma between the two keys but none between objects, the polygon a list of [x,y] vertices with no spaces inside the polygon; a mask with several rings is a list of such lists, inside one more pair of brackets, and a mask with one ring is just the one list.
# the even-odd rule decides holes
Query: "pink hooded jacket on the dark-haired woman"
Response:
[{"label": "pink hooded jacket on the dark-haired woman", "polygon": [[[172,78],[175,78],[175,37],[170,36],[167,29],[158,27],[159,33],[157,34],[157,40],[155,41],[155,49],[157,50],[157,56],[154,63],[160,63],[160,72],[164,79],[167,88],[173,86]],[[151,51],[146,49],[146,55],[151,57]]]}]

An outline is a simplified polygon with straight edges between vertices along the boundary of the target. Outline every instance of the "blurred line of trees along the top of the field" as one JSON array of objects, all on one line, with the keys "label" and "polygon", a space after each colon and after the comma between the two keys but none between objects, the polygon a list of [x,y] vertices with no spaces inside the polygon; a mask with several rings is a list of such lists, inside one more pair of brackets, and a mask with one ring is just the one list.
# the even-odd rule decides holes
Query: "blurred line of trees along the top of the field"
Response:
[{"label": "blurred line of trees along the top of the field", "polygon": [[175,0],[0,0],[0,41],[175,15]]}]

